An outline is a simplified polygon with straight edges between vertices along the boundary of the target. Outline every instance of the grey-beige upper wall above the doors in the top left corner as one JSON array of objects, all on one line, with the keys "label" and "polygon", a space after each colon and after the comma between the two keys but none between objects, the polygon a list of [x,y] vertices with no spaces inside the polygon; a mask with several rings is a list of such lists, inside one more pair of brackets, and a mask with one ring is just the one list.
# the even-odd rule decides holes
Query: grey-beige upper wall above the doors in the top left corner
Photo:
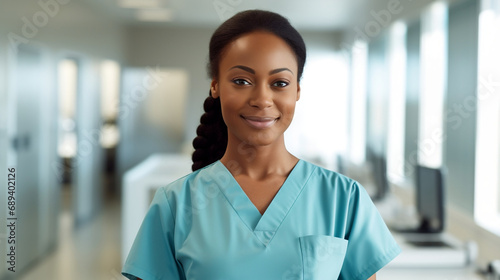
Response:
[{"label": "grey-beige upper wall above the doors in the top left corner", "polygon": [[[55,0],[40,2],[58,3],[58,8],[50,8],[51,15],[38,4],[39,1],[3,1],[0,9],[0,32],[4,44],[9,43],[9,34],[18,35],[22,42],[40,42],[53,51],[68,50],[94,57],[123,60],[123,27],[113,22],[106,14],[96,12],[83,0]],[[33,20],[35,15],[48,15],[46,24]],[[23,18],[25,18],[23,20]],[[28,28],[29,24],[34,29]],[[36,30],[33,32],[33,30]],[[23,32],[25,31],[25,32]],[[29,36],[26,36],[29,35]],[[17,38],[19,38],[17,37]]]}]

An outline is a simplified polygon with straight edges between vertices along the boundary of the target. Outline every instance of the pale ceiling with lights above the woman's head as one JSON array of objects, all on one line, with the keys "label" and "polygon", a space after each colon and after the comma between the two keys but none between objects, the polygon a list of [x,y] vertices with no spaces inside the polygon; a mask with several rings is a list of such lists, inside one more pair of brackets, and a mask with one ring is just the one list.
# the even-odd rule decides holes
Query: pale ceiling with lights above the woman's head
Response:
[{"label": "pale ceiling with lights above the woman's head", "polygon": [[171,12],[172,20],[145,22],[137,20],[137,9],[122,8],[118,5],[119,1],[125,0],[88,1],[106,15],[127,25],[212,28],[239,11],[265,9],[282,14],[297,29],[303,30],[345,29],[355,24],[363,12],[368,14],[367,7],[373,3],[373,0],[151,0],[152,2],[158,1],[160,7],[167,8]]}]

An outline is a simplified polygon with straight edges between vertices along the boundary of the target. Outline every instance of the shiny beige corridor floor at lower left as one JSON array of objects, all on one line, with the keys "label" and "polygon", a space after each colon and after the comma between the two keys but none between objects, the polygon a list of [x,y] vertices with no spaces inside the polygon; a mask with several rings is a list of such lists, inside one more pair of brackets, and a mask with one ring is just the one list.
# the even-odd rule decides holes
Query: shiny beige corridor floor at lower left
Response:
[{"label": "shiny beige corridor floor at lower left", "polygon": [[120,256],[120,202],[108,198],[102,212],[81,228],[74,229],[63,188],[60,240],[57,249],[20,275],[21,280],[123,280]]}]

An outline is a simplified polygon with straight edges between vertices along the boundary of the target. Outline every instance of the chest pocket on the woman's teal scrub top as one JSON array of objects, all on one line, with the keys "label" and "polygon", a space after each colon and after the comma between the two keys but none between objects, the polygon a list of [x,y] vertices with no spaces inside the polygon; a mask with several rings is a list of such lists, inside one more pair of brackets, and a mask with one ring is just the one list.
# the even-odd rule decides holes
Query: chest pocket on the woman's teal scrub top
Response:
[{"label": "chest pocket on the woman's teal scrub top", "polygon": [[304,280],[337,279],[348,241],[328,235],[299,237]]}]

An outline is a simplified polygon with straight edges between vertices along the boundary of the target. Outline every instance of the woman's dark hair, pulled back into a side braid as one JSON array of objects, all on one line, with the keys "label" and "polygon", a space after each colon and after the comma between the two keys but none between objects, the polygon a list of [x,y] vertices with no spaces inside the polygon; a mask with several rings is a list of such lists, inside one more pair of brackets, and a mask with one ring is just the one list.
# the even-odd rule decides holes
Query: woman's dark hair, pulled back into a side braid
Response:
[{"label": "woman's dark hair, pulled back into a side braid", "polygon": [[[298,65],[297,79],[300,81],[306,61],[304,40],[286,18],[263,10],[239,12],[215,30],[209,45],[207,64],[209,78],[218,79],[219,63],[224,48],[238,37],[257,30],[273,33],[292,48]],[[222,118],[220,99],[213,98],[209,91],[203,109],[205,113],[200,118],[200,125],[196,130],[197,136],[193,140],[195,149],[192,156],[193,171],[221,159],[227,146],[227,126]]]}]

